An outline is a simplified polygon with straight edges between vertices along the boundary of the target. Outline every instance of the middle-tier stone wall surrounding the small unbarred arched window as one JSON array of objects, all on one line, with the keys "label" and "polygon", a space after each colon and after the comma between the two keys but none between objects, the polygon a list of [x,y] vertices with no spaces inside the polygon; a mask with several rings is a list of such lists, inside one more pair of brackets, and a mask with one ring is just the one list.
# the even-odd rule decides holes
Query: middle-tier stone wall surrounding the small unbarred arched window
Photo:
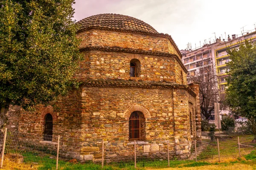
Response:
[{"label": "middle-tier stone wall surrounding the small unbarred arched window", "polygon": [[[139,77],[129,75],[130,61],[134,58],[140,60]],[[143,54],[89,51],[84,53],[84,61],[81,62],[77,77],[81,80],[93,78],[175,82],[175,59]]]}]

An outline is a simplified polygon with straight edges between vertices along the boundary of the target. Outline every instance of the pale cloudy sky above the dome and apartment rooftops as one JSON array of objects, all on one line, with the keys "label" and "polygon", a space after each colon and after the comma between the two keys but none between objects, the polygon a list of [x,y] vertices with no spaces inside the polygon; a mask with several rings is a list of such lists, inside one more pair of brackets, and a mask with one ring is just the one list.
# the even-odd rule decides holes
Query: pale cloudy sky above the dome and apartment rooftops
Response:
[{"label": "pale cloudy sky above the dome and apartment rooftops", "polygon": [[[256,0],[75,0],[74,19],[123,14],[169,34],[178,48],[192,49],[228,34],[256,30]],[[255,25],[254,25],[255,24]],[[215,34],[214,34],[215,33]],[[226,34],[225,34],[226,33]]]}]

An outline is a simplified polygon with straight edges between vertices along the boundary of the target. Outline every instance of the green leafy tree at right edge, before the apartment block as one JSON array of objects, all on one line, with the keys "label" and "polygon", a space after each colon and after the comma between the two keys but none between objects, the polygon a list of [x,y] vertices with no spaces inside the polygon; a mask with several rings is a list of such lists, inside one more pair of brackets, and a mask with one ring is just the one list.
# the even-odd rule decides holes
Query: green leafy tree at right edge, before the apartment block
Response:
[{"label": "green leafy tree at right edge, before the apartment block", "polygon": [[227,103],[252,123],[256,135],[256,43],[246,40],[239,50],[233,48],[227,52],[231,59],[227,63]]}]

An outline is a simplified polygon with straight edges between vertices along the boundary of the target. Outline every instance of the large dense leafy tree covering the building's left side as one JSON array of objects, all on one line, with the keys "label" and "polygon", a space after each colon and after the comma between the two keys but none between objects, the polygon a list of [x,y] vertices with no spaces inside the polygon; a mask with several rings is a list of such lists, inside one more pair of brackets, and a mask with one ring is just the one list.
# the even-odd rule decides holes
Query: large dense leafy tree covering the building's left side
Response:
[{"label": "large dense leafy tree covering the building's left side", "polygon": [[0,0],[0,126],[10,105],[52,101],[76,82],[74,0]]}]

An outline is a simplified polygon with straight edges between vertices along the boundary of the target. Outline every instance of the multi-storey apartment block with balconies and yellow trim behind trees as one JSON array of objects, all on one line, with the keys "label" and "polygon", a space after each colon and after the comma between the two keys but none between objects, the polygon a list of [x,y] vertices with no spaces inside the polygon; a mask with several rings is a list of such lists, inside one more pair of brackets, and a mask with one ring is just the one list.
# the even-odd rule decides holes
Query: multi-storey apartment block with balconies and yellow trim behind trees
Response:
[{"label": "multi-storey apartment block with balconies and yellow trim behind trees", "polygon": [[[217,75],[218,84],[216,87],[220,89],[221,93],[225,92],[227,87],[226,77],[227,75],[227,62],[230,61],[227,54],[227,48],[239,49],[239,45],[245,40],[256,41],[256,29],[248,31],[244,34],[233,34],[228,36],[227,40],[221,40],[217,38],[213,43],[204,44],[201,48],[194,50],[180,50],[182,54],[182,62],[188,70],[187,81],[190,81],[190,77],[196,76],[196,72],[206,65],[210,65],[213,73]],[[228,108],[220,108],[219,115],[222,117],[225,114],[229,114]],[[215,116],[215,113],[212,113]]]}]

